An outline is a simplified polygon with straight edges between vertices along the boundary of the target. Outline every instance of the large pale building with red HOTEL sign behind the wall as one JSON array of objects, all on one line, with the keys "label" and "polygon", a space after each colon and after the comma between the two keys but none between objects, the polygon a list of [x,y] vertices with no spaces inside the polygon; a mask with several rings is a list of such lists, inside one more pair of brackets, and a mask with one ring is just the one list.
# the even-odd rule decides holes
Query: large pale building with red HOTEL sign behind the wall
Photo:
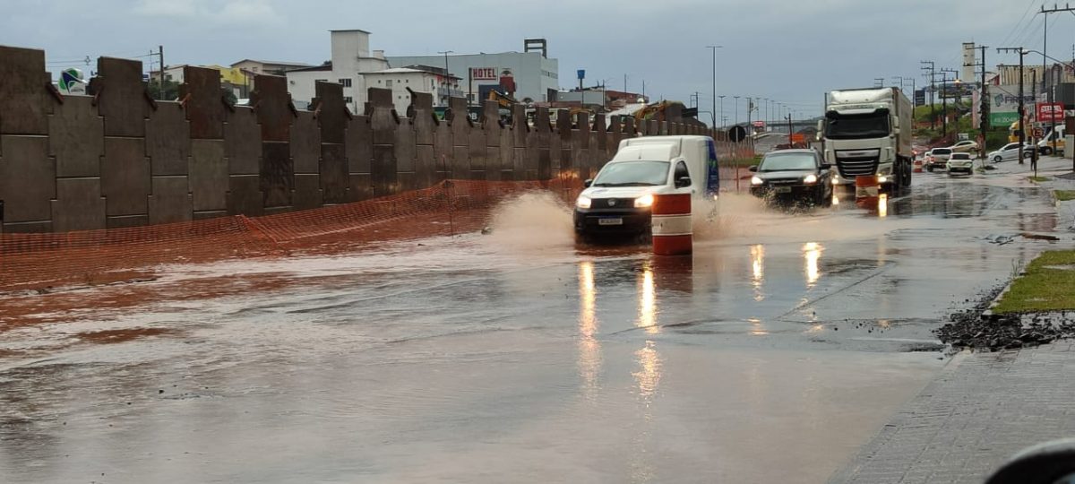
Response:
[{"label": "large pale building with red HOTEL sign behind the wall", "polygon": [[[559,61],[546,57],[544,40],[540,49],[500,54],[391,56],[392,67],[435,66],[459,76],[462,91],[472,102],[488,99],[489,89],[497,89],[519,101],[553,101],[560,89]],[[530,47],[530,41],[527,42]]]}]

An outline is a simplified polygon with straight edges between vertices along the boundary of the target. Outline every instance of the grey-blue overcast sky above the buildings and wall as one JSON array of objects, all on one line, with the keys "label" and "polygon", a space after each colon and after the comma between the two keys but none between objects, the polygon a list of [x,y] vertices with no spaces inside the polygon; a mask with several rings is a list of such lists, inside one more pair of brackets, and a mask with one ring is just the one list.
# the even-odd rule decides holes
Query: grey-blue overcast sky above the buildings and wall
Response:
[{"label": "grey-blue overcast sky above the buildings and wall", "polygon": [[[1051,3],[1049,3],[1051,5]],[[167,63],[230,65],[244,58],[320,63],[330,29],[373,33],[389,56],[521,51],[548,40],[561,87],[587,83],[689,102],[717,95],[770,98],[819,114],[822,92],[915,76],[920,60],[960,69],[962,42],[989,45],[987,61],[1018,62],[992,47],[1042,48],[1041,1],[1024,0],[0,0],[0,44],[44,48],[59,71],[86,56],[144,56]],[[1049,54],[1071,58],[1075,15],[1049,15]],[[143,60],[148,60],[143,58]],[[1041,62],[1041,56],[1028,56]],[[80,67],[80,66],[74,66]],[[82,67],[85,67],[84,65]],[[92,67],[91,67],[92,68]],[[90,68],[90,69],[91,69]],[[897,81],[898,83],[898,81]],[[909,79],[905,81],[909,90]],[[741,116],[745,99],[740,102]],[[718,106],[719,111],[719,106]]]}]

